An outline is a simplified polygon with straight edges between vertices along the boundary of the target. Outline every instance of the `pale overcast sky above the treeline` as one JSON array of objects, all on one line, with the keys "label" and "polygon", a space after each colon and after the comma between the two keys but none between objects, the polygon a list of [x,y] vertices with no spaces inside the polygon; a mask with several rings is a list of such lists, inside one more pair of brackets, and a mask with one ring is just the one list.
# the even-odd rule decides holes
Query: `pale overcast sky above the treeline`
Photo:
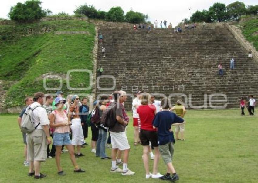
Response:
[{"label": "pale overcast sky above the treeline", "polygon": [[[94,5],[95,8],[108,11],[113,6],[121,6],[126,14],[132,8],[134,11],[139,11],[149,15],[149,21],[154,23],[158,21],[171,22],[173,27],[189,16],[196,10],[208,9],[215,2],[221,2],[229,5],[236,0],[41,0],[43,9],[50,9],[53,14],[64,11],[70,15],[73,14],[73,10],[76,6]],[[245,5],[257,5],[257,0],[239,0],[244,2]],[[0,2],[0,18],[8,18],[7,14],[10,11],[11,6],[16,5],[17,2],[24,2],[23,0],[1,0]],[[189,11],[191,8],[191,12]]]}]

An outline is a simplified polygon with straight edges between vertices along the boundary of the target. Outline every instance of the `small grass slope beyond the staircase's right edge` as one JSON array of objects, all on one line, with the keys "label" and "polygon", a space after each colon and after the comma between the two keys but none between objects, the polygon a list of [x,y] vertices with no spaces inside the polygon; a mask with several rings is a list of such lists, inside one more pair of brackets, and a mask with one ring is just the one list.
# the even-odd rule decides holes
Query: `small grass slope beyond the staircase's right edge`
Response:
[{"label": "small grass slope beyond the staircase's right edge", "polygon": [[258,19],[245,21],[240,23],[240,25],[243,27],[242,34],[258,50]]}]

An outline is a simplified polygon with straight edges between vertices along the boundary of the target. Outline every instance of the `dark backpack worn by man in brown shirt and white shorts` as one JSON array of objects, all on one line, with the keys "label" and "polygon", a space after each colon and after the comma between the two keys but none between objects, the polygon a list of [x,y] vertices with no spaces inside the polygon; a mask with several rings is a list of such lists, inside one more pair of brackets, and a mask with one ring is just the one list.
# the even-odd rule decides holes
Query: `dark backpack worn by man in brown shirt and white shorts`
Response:
[{"label": "dark backpack worn by man in brown shirt and white shorts", "polygon": [[101,116],[101,124],[107,128],[112,128],[117,123],[116,116],[117,103],[110,104]]}]

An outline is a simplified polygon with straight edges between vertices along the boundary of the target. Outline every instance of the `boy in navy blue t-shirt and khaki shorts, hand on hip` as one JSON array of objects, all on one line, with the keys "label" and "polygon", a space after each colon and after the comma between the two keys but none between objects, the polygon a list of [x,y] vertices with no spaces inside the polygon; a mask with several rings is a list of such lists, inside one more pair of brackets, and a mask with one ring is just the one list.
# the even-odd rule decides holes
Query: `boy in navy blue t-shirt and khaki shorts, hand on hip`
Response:
[{"label": "boy in navy blue t-shirt and khaki shorts, hand on hip", "polygon": [[160,179],[174,182],[179,180],[179,176],[176,174],[175,168],[172,164],[174,153],[173,144],[175,139],[171,126],[183,124],[185,121],[175,113],[169,111],[167,98],[163,98],[161,100],[161,106],[163,107],[163,111],[158,112],[153,120],[153,128],[158,128],[159,152],[167,165],[167,173],[160,177]]}]

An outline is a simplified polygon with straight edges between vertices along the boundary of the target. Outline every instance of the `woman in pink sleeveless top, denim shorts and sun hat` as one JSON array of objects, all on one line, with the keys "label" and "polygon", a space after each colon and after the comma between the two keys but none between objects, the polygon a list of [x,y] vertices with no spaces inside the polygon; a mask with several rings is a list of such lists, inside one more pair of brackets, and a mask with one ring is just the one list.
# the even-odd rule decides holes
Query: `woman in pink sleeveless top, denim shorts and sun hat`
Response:
[{"label": "woman in pink sleeveless top, denim shorts and sun hat", "polygon": [[69,151],[70,159],[74,166],[74,172],[85,172],[78,167],[74,155],[73,145],[69,136],[70,125],[66,116],[66,111],[63,110],[65,100],[62,97],[57,97],[55,100],[56,109],[50,115],[50,127],[54,128],[53,145],[56,146],[56,166],[59,175],[66,175],[60,164],[60,156],[62,145],[65,145]]}]

